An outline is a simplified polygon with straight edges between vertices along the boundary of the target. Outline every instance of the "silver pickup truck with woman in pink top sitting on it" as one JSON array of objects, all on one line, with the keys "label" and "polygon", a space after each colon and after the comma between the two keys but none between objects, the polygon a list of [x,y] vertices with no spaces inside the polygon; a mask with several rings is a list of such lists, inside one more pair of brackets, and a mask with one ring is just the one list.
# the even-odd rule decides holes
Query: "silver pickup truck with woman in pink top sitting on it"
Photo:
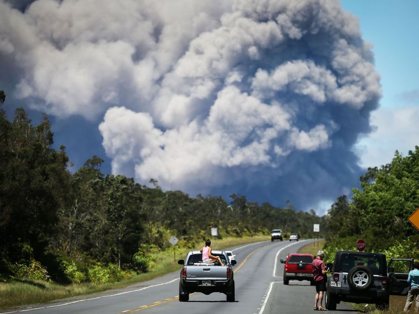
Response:
[{"label": "silver pickup truck with woman in pink top sitting on it", "polygon": [[178,260],[183,265],[180,271],[179,301],[189,301],[189,294],[202,292],[209,295],[213,292],[224,293],[227,302],[234,302],[233,265],[236,261],[229,261],[225,251],[211,251],[212,255],[220,256],[224,266],[216,263],[203,263],[200,251],[190,251],[185,260]]}]

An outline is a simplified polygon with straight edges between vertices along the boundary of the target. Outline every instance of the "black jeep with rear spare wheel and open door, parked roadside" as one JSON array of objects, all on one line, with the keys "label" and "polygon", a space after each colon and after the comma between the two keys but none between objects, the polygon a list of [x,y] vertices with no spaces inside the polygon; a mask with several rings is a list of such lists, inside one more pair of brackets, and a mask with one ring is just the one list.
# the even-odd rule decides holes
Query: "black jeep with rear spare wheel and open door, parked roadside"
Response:
[{"label": "black jeep with rear spare wheel and open door, parked roadside", "polygon": [[407,276],[413,269],[412,259],[393,258],[386,263],[380,253],[338,251],[326,290],[326,309],[336,310],[340,301],[375,303],[387,309],[390,295],[407,295]]}]

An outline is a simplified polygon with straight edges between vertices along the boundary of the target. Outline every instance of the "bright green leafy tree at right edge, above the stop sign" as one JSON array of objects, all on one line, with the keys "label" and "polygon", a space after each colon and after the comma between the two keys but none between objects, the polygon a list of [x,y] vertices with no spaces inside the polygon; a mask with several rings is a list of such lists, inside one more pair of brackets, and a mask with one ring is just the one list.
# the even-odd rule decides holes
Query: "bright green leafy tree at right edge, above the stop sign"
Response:
[{"label": "bright green leafy tree at right edge, above the stop sign", "polygon": [[407,157],[396,151],[373,181],[354,189],[353,200],[351,214],[360,221],[361,233],[369,230],[376,236],[399,238],[416,232],[407,218],[419,204],[419,146]]}]

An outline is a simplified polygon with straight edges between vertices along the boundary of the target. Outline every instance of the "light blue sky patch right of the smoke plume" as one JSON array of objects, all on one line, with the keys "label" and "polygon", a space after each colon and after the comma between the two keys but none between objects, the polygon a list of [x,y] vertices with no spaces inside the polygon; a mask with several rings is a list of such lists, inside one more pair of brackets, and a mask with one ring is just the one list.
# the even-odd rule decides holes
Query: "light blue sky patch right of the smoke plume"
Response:
[{"label": "light blue sky patch right of the smoke plume", "polygon": [[380,108],[372,113],[378,130],[358,145],[364,167],[381,166],[391,161],[396,149],[407,156],[419,145],[419,1],[341,3],[359,18],[381,76],[383,97]]}]

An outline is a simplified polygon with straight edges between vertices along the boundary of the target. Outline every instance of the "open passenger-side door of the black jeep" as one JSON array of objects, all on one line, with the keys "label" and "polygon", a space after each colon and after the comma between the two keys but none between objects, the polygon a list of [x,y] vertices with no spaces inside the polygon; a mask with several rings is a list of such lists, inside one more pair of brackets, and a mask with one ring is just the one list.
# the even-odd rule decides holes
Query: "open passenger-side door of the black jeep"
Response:
[{"label": "open passenger-side door of the black jeep", "polygon": [[387,286],[391,295],[406,296],[410,284],[407,283],[409,271],[413,269],[413,259],[392,258],[387,265]]}]

